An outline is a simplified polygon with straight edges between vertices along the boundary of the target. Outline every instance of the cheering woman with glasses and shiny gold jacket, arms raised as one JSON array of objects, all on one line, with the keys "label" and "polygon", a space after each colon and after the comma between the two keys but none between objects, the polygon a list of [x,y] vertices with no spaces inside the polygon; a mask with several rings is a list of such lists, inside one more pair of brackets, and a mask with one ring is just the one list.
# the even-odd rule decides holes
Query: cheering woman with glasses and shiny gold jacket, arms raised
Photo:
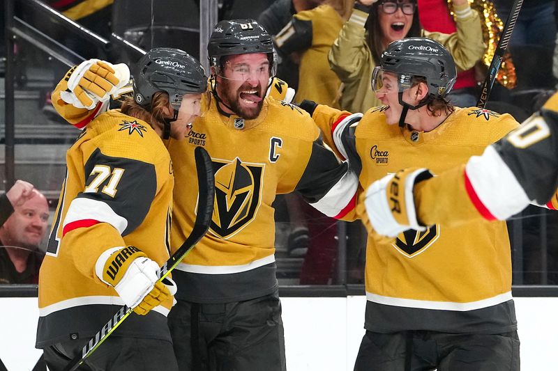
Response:
[{"label": "cheering woman with glasses and shiny gold jacket, arms raised", "polygon": [[472,68],[483,56],[481,20],[467,0],[453,0],[457,32],[421,29],[416,0],[359,0],[329,52],[329,64],[343,83],[341,109],[365,112],[381,105],[370,90],[372,70],[390,42],[425,36],[440,42],[455,59],[458,71]]}]

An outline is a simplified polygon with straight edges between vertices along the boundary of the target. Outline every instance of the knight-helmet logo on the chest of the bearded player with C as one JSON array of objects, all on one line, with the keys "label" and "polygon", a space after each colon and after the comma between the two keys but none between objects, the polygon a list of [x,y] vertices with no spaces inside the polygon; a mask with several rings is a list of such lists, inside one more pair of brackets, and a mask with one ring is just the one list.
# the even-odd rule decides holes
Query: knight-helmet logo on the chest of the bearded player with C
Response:
[{"label": "knight-helmet logo on the chest of the bearded player with C", "polygon": [[262,195],[264,164],[213,159],[215,206],[211,230],[223,239],[254,220]]}]

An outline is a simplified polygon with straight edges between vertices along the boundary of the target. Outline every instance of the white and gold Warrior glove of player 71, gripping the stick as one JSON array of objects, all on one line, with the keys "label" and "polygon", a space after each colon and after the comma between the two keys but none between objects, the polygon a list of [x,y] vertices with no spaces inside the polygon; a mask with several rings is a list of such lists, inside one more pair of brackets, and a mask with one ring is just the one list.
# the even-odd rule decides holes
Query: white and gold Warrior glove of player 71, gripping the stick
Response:
[{"label": "white and gold Warrior glove of player 71, gripping the stick", "polygon": [[[114,287],[122,301],[139,315],[167,300],[172,293],[158,282],[159,266],[135,246],[110,248],[97,260],[95,273],[107,285]],[[174,282],[171,290],[176,292]]]}]

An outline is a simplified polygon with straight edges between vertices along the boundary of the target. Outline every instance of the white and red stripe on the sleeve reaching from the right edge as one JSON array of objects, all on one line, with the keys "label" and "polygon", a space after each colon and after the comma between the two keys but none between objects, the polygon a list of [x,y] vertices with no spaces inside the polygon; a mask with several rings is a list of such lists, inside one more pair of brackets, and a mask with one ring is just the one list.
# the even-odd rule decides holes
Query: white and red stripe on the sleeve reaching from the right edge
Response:
[{"label": "white and red stripe on the sleeve reaching from the right edge", "polygon": [[485,219],[508,219],[531,201],[493,145],[467,161],[465,175],[469,198]]}]

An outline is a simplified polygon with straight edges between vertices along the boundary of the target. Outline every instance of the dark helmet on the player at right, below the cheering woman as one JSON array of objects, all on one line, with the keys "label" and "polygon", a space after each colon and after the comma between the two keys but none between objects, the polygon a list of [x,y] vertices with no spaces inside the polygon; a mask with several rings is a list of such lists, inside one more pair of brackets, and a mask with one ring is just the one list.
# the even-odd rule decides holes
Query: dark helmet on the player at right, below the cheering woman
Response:
[{"label": "dark helmet on the player at right, below the cheering woman", "polygon": [[380,63],[372,73],[372,90],[382,87],[382,71],[398,75],[400,91],[412,87],[412,77],[423,77],[428,85],[427,102],[435,97],[445,97],[457,77],[451,54],[442,44],[429,38],[391,42],[382,53]]}]

